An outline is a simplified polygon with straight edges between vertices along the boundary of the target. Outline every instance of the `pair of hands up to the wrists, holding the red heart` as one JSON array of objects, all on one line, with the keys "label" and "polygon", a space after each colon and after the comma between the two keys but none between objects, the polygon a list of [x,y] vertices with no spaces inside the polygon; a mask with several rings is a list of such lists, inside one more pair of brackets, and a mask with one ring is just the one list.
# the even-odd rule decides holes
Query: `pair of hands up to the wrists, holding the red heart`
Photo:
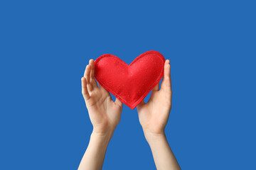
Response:
[{"label": "pair of hands up to the wrists, holding the red heart", "polygon": [[[154,136],[164,135],[164,128],[169,119],[171,111],[170,67],[170,61],[166,60],[161,89],[157,84],[151,91],[149,101],[147,103],[142,101],[137,106],[139,123],[142,125],[148,141]],[[93,125],[93,133],[95,135],[110,135],[113,134],[120,121],[123,103],[118,98],[112,101],[110,93],[100,84],[97,86],[94,74],[95,61],[90,60],[84,77],[81,79],[82,96]]]}]

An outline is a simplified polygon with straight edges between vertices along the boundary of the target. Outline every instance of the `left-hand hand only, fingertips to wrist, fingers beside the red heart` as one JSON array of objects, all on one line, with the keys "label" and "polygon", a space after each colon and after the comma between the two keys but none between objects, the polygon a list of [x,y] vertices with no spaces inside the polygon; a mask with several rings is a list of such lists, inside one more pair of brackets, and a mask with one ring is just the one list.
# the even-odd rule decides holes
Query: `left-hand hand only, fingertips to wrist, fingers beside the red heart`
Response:
[{"label": "left-hand hand only, fingertips to wrist, fingers beside the red heart", "polygon": [[114,132],[122,113],[122,102],[116,98],[112,101],[110,93],[102,86],[97,86],[94,77],[95,61],[90,60],[86,66],[84,77],[82,77],[82,96],[93,125],[93,132],[105,135]]}]

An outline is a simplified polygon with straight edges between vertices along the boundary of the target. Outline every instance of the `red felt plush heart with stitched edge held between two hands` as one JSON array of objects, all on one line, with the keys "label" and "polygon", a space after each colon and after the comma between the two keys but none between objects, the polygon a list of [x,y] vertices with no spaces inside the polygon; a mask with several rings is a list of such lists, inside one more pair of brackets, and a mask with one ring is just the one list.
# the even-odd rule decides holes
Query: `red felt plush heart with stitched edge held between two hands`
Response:
[{"label": "red felt plush heart with stitched edge held between two hands", "polygon": [[129,108],[134,109],[164,75],[164,56],[144,52],[131,64],[105,54],[95,60],[95,79]]}]

